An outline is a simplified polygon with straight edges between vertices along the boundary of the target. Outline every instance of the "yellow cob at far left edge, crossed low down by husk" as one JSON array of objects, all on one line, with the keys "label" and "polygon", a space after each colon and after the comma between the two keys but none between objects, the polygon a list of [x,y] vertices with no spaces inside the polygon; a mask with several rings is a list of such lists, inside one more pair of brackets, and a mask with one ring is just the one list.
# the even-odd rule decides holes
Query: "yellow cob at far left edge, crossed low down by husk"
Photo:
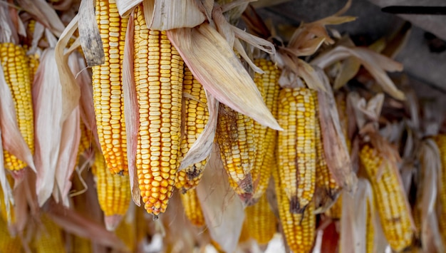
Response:
[{"label": "yellow cob at far left edge, crossed low down by husk", "polygon": [[[17,123],[31,153],[34,153],[33,101],[28,58],[24,48],[13,43],[0,43],[0,60],[4,78],[14,99]],[[9,170],[21,170],[26,163],[4,150],[4,165]]]}]

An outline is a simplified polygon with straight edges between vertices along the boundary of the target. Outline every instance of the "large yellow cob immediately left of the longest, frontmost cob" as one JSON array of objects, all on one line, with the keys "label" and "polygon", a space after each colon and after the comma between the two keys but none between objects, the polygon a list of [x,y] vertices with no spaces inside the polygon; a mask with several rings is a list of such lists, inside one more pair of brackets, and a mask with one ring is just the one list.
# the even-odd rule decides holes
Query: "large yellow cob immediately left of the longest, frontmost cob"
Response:
[{"label": "large yellow cob immediately left of the longest, frontmost cob", "polygon": [[97,0],[95,11],[105,53],[92,77],[100,149],[110,172],[127,174],[122,66],[128,19],[120,18],[115,0]]}]

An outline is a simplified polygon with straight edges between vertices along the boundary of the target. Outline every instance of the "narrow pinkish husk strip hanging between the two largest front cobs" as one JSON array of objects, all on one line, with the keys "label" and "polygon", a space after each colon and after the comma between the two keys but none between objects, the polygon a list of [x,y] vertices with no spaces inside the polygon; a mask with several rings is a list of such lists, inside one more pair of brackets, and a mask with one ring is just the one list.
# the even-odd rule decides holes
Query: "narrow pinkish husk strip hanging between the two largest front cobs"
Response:
[{"label": "narrow pinkish husk strip hanging between the two largest front cobs", "polygon": [[[123,93],[125,133],[127,138],[128,175],[132,199],[138,207],[141,205],[140,187],[136,170],[136,150],[138,148],[138,131],[140,128],[140,114],[136,95],[135,79],[133,76],[133,12],[128,19],[125,33],[123,60]],[[100,146],[98,146],[100,147]]]}]

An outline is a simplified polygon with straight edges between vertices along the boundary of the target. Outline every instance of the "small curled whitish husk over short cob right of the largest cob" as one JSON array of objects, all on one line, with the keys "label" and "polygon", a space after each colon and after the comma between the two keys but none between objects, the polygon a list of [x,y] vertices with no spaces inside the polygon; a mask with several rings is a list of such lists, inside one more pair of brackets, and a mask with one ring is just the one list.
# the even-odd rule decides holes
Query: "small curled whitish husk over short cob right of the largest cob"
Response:
[{"label": "small curled whitish husk over short cob right of the largest cob", "polygon": [[206,90],[204,90],[204,92],[206,93],[209,120],[202,133],[198,136],[197,140],[195,140],[195,143],[190,147],[185,158],[181,161],[178,171],[184,170],[196,162],[201,162],[202,160],[207,159],[212,153],[215,131],[217,130],[219,102],[211,93]]}]

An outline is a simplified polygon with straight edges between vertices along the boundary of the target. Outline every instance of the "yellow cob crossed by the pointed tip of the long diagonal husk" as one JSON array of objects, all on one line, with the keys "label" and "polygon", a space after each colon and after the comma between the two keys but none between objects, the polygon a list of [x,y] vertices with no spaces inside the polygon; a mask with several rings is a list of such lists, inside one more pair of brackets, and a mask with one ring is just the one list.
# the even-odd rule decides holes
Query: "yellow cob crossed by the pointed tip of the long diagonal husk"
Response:
[{"label": "yellow cob crossed by the pointed tip of the long diagonal husk", "polygon": [[[281,71],[274,66],[272,61],[257,59],[254,61],[259,66],[263,74],[255,73],[254,82],[264,99],[266,106],[274,116],[277,115],[277,100],[279,99],[279,76]],[[255,202],[264,194],[268,187],[269,177],[271,177],[271,167],[274,160],[274,150],[276,149],[276,130],[266,128],[254,121],[254,137],[256,138],[256,155],[252,168],[253,181],[256,182],[253,201]]]}]

